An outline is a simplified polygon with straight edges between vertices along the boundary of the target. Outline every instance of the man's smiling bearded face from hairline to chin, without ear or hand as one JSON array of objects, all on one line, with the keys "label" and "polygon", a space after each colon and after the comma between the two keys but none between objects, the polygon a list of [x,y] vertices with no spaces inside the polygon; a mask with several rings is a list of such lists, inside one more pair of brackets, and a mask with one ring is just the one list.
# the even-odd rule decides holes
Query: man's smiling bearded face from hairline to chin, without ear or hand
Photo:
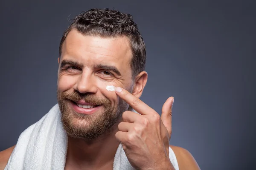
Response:
[{"label": "man's smiling bearded face from hairline to chin, without ear or hand", "polygon": [[58,68],[58,104],[67,134],[92,141],[111,130],[128,109],[107,85],[131,92],[131,49],[126,37],[101,38],[70,31]]}]

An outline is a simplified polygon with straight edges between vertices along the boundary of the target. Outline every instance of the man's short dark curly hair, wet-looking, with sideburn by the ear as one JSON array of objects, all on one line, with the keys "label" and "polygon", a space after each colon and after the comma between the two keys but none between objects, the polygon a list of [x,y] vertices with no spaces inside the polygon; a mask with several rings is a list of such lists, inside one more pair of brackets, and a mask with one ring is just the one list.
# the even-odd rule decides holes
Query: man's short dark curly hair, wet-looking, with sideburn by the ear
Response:
[{"label": "man's short dark curly hair, wet-looking, with sideburn by the ear", "polygon": [[140,35],[137,24],[134,23],[130,14],[124,14],[108,8],[94,8],[82,12],[75,17],[73,23],[71,23],[71,25],[64,31],[59,46],[59,56],[61,56],[62,44],[66,39],[67,34],[72,29],[76,29],[84,35],[100,37],[128,37],[133,53],[130,62],[133,79],[137,74],[145,70],[145,43]]}]

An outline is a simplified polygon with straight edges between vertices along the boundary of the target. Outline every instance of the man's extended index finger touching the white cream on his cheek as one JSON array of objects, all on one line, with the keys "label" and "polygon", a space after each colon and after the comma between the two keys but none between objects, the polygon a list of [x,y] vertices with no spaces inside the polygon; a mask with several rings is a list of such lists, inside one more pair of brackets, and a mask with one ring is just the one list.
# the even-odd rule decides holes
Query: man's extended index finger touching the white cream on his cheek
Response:
[{"label": "man's extended index finger touching the white cream on his cheek", "polygon": [[125,102],[127,102],[135,111],[142,115],[146,114],[152,114],[156,113],[154,109],[149,107],[147,104],[145,104],[141,99],[137,98],[136,96],[132,95],[130,92],[127,90],[116,87],[115,88],[116,94],[123,99]]}]

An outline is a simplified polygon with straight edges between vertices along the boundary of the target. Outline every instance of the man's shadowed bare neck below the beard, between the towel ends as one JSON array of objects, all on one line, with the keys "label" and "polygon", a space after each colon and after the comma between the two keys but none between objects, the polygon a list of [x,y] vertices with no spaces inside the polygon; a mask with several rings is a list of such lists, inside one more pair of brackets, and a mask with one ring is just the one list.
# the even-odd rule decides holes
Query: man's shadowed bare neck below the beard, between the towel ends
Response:
[{"label": "man's shadowed bare neck below the beard, between the towel ends", "polygon": [[[88,167],[88,169],[100,169],[100,167],[112,166],[119,142],[115,134],[118,131],[116,123],[108,134],[102,135],[93,142],[84,139],[68,137],[66,166]],[[78,169],[78,168],[77,168]]]}]

